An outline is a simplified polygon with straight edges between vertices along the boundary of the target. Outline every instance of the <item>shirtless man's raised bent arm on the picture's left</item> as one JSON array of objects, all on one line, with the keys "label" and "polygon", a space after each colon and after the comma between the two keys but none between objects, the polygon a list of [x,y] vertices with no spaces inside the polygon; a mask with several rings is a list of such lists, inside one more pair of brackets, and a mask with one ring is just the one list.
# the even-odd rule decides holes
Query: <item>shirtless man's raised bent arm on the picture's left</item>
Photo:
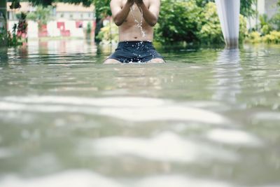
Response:
[{"label": "shirtless man's raised bent arm on the picture's left", "polygon": [[120,0],[111,1],[111,11],[113,20],[117,26],[120,26],[125,22],[127,15],[130,13],[130,7],[134,4],[134,0],[127,0],[125,6],[122,7]]}]

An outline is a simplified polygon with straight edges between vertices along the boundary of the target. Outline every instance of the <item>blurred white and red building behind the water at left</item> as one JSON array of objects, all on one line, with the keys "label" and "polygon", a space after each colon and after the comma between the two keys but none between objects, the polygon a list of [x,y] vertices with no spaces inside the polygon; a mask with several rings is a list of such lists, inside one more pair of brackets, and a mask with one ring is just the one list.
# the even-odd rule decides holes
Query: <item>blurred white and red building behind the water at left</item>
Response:
[{"label": "blurred white and red building behind the water at left", "polygon": [[[36,11],[36,7],[31,6],[29,2],[21,2],[20,5],[21,8],[10,9],[10,3],[7,3],[8,29],[10,31],[13,29],[13,25],[18,22],[18,13],[31,13]],[[89,30],[90,34],[94,35],[94,6],[84,7],[82,4],[57,3],[54,4],[51,14],[50,21],[46,25],[41,25],[40,28],[38,28],[38,22],[28,20],[27,36],[29,39],[41,36],[84,38],[89,34]]]}]

